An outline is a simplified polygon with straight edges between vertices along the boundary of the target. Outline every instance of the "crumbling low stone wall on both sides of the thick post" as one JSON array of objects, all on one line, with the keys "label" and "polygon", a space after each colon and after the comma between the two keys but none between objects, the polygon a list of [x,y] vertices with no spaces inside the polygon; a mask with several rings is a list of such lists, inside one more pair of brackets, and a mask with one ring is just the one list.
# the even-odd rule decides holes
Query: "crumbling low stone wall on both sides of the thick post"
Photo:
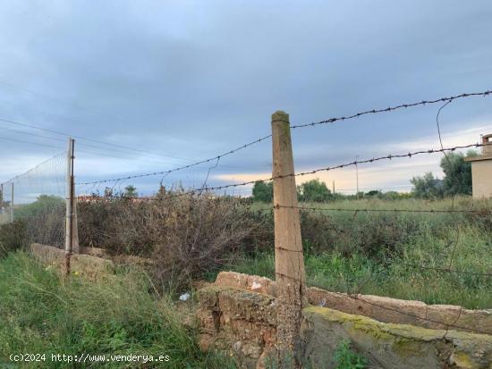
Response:
[{"label": "crumbling low stone wall on both sides of the thick post", "polygon": [[[263,368],[275,352],[275,282],[240,273],[220,273],[216,283],[199,290],[200,346],[225,350],[243,368]],[[343,340],[379,368],[492,368],[492,336],[464,331],[428,329],[423,319],[388,314],[348,296],[309,289],[310,306],[303,310],[301,361],[315,368],[334,368],[334,353]],[[381,306],[432,316],[455,323],[458,306],[427,306],[419,301],[364,296]],[[351,314],[335,310],[336,306]],[[369,308],[371,306],[371,308]],[[405,310],[406,309],[406,310]],[[355,313],[355,314],[353,314]],[[378,322],[367,315],[375,315]],[[465,327],[487,330],[490,312],[462,309]],[[398,316],[403,315],[403,316]],[[419,316],[419,315],[417,315]],[[474,321],[477,319],[477,322]],[[402,323],[400,323],[402,322]],[[481,322],[481,323],[480,323]],[[413,325],[411,325],[413,324]],[[442,324],[434,323],[437,328]],[[479,325],[482,324],[482,325]],[[312,366],[311,366],[312,367]]]}]

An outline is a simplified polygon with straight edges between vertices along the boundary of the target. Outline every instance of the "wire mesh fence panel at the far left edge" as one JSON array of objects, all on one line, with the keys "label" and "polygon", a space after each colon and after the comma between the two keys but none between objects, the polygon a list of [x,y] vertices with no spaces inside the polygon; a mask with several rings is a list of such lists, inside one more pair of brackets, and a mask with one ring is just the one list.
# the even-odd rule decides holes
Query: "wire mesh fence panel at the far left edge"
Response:
[{"label": "wire mesh fence panel at the far left edge", "polygon": [[23,222],[28,242],[64,247],[67,154],[2,184],[0,222]]}]

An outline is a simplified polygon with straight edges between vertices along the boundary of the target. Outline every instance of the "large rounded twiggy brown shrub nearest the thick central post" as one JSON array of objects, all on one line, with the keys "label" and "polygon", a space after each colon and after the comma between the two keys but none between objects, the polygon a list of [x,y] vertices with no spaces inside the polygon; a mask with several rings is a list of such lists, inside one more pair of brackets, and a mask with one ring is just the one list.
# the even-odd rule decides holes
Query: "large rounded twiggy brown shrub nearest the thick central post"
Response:
[{"label": "large rounded twiggy brown shrub nearest the thick central post", "polygon": [[216,197],[170,197],[155,208],[153,258],[161,280],[182,283],[225,264],[251,230],[246,210]]}]

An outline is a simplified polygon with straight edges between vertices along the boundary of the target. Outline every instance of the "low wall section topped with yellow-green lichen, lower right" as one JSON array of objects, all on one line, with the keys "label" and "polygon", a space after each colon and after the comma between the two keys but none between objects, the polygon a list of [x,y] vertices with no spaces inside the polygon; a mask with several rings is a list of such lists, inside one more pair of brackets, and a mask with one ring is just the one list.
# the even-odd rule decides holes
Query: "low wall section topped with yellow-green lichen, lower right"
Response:
[{"label": "low wall section topped with yellow-green lichen, lower right", "polygon": [[303,359],[316,368],[334,368],[342,340],[378,368],[492,368],[492,336],[380,323],[361,315],[319,306],[303,311]]}]

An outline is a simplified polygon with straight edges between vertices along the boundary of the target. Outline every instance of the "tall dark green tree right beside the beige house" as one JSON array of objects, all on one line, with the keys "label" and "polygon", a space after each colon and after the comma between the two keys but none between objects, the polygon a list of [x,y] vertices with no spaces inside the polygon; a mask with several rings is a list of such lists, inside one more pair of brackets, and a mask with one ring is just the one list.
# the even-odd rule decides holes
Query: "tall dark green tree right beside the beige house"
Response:
[{"label": "tall dark green tree right beside the beige house", "polygon": [[[466,156],[477,156],[470,150]],[[445,195],[471,195],[471,163],[465,162],[462,153],[449,153],[441,159],[441,168],[445,172]]]}]

